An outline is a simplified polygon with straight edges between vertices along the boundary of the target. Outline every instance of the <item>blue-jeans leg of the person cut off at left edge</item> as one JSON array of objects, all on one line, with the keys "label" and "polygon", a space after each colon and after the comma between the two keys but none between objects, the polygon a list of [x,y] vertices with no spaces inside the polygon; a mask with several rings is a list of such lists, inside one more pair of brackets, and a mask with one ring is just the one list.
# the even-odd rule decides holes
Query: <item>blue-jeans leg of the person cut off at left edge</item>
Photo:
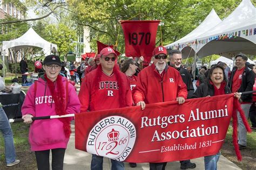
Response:
[{"label": "blue-jeans leg of the person cut off at left edge", "polygon": [[14,137],[11,130],[11,125],[3,108],[0,108],[0,130],[4,137],[4,151],[6,164],[11,164],[15,161],[16,154],[14,148]]}]

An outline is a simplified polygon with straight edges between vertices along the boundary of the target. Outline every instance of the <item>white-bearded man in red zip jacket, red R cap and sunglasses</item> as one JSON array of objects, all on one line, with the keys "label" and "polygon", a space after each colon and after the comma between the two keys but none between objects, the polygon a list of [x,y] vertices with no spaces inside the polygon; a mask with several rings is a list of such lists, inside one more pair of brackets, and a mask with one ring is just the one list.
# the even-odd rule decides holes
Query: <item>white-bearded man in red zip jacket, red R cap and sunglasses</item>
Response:
[{"label": "white-bearded man in red zip jacket, red R cap and sunglasses", "polygon": [[[187,98],[187,87],[180,73],[166,64],[167,50],[163,46],[153,51],[153,64],[144,68],[138,75],[133,100],[145,109],[146,104],[177,101],[179,104]],[[163,170],[166,162],[150,163],[150,169]]]}]

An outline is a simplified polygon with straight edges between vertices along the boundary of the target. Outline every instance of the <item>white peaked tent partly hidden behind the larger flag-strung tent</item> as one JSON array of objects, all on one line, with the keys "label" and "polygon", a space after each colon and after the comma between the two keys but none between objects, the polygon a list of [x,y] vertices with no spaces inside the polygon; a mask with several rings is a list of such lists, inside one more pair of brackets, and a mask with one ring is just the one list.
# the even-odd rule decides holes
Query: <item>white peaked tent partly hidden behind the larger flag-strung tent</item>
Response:
[{"label": "white peaked tent partly hidden behind the larger flag-strung tent", "polygon": [[214,9],[208,14],[208,16],[204,19],[204,21],[192,32],[188,33],[185,37],[172,42],[172,44],[166,45],[167,49],[171,48],[179,48],[180,51],[183,52],[184,58],[187,56],[194,56],[194,52],[196,51],[196,46],[192,46],[192,44],[196,43],[196,39],[200,34],[211,30],[215,25],[218,25],[221,22],[221,19],[217,15]]}]

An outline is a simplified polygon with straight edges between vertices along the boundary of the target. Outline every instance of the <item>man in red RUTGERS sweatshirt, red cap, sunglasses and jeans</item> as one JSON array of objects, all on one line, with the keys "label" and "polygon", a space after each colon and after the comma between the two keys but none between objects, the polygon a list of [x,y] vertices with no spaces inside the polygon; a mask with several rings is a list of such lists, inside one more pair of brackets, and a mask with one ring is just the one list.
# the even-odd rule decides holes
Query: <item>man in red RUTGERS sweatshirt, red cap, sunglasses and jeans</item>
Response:
[{"label": "man in red RUTGERS sweatshirt, red cap, sunglasses and jeans", "polygon": [[[130,107],[132,95],[126,75],[114,63],[117,54],[110,47],[100,51],[100,64],[85,75],[78,97],[81,112]],[[112,160],[111,169],[124,169],[124,163]],[[103,169],[103,157],[92,155],[91,169]]]}]

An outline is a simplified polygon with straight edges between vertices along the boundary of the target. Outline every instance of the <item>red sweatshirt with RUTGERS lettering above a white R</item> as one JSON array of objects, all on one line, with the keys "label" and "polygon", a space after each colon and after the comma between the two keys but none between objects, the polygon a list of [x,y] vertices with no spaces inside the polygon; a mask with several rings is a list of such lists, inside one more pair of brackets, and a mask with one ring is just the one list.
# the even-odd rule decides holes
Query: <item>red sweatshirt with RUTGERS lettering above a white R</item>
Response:
[{"label": "red sweatshirt with RUTGERS lettering above a white R", "polygon": [[[98,82],[95,82],[96,79]],[[122,89],[120,83],[122,83]],[[81,103],[81,112],[132,105],[130,83],[127,81],[126,75],[117,69],[110,76],[106,75],[100,65],[85,75],[78,97]]]}]

